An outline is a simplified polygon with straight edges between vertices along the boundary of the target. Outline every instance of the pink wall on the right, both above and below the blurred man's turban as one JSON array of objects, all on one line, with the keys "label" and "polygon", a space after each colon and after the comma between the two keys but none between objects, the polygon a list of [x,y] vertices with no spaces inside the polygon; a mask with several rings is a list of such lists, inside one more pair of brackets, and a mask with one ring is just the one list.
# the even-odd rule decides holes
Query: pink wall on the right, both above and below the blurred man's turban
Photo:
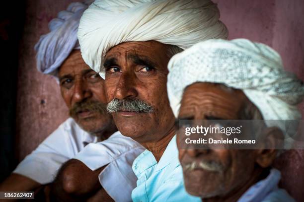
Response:
[{"label": "pink wall on the right, both above and below the blurred man's turban", "polygon": [[[287,70],[304,80],[303,0],[214,0],[227,25],[229,39],[247,38],[274,48]],[[304,117],[304,103],[299,108]],[[282,171],[281,186],[304,201],[304,150],[282,154],[275,166]]]}]

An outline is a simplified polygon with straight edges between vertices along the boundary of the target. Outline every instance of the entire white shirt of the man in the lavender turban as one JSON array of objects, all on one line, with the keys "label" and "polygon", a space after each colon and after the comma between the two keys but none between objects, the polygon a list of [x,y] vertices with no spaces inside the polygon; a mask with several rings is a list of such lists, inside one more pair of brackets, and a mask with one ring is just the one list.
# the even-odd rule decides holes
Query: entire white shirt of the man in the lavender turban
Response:
[{"label": "entire white shirt of the man in the lavender turban", "polygon": [[60,167],[72,158],[82,161],[91,170],[107,165],[99,175],[102,187],[115,201],[123,198],[123,201],[131,201],[137,180],[132,163],[144,148],[120,132],[102,142],[94,142],[97,137],[83,131],[69,118],[27,155],[13,173],[48,184],[53,182]]}]

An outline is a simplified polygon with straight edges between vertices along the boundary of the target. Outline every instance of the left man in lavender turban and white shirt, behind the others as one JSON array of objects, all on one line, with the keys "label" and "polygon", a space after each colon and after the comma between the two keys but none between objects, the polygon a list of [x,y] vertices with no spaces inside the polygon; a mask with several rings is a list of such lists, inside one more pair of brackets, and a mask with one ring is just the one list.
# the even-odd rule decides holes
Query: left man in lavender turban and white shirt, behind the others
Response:
[{"label": "left man in lavender turban and white shirt, behind the others", "polygon": [[[73,193],[77,200],[87,199],[98,190],[101,193],[105,190],[116,201],[131,200],[131,191],[136,186],[132,162],[144,149],[136,141],[116,132],[112,116],[106,111],[104,80],[81,58],[77,29],[88,3],[74,2],[67,10],[59,12],[49,23],[50,32],[42,35],[35,46],[37,68],[59,81],[71,118],[25,157],[1,184],[1,191],[32,191],[52,183],[66,161],[77,159],[81,156],[80,151],[94,147],[89,143],[100,141],[98,151],[101,155],[94,158],[92,154],[82,160],[86,164],[91,159],[98,161],[99,167],[86,167],[75,159],[68,161],[66,165],[75,161],[82,165],[77,171],[81,172],[83,184],[74,181],[75,172],[70,170],[66,172],[69,178],[57,183],[56,189]],[[106,186],[101,189],[101,184]],[[119,195],[113,192],[114,187],[120,190]],[[71,197],[71,200],[75,199]]]}]

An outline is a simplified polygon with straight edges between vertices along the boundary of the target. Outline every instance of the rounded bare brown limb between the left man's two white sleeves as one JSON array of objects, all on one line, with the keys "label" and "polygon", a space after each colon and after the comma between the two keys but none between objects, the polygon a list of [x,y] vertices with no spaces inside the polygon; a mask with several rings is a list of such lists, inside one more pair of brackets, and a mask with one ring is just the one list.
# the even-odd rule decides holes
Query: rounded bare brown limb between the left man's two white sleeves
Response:
[{"label": "rounded bare brown limb between the left man's two white sleeves", "polygon": [[105,168],[103,166],[95,171],[76,159],[67,161],[51,186],[51,199],[53,201],[84,201],[93,197],[102,189],[98,175]]}]

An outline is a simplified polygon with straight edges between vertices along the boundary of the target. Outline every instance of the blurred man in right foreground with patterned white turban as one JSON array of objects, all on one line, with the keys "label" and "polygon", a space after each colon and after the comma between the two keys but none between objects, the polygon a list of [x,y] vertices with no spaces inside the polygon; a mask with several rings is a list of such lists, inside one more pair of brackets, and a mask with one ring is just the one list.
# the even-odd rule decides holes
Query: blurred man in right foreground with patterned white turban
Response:
[{"label": "blurred man in right foreground with patterned white turban", "polygon": [[[254,149],[190,149],[178,141],[187,192],[204,202],[294,202],[278,188],[281,174],[271,165],[275,148],[290,148],[282,123],[301,119],[304,84],[284,70],[279,54],[246,39],[208,40],[175,55],[168,69],[168,97],[179,120],[260,119],[267,128]],[[257,128],[252,133],[261,137]]]}]

